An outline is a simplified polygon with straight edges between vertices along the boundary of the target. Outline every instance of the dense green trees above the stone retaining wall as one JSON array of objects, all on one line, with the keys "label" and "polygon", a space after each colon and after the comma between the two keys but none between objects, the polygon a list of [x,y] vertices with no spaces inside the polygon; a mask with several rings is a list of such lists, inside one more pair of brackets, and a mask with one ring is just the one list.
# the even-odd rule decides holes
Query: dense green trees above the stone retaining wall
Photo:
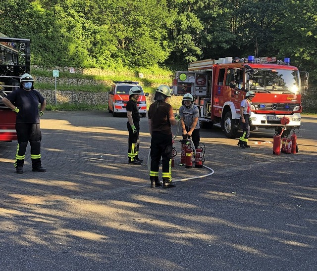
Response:
[{"label": "dense green trees above the stone retaining wall", "polygon": [[317,82],[315,0],[5,0],[0,32],[32,64],[115,68],[284,56]]}]

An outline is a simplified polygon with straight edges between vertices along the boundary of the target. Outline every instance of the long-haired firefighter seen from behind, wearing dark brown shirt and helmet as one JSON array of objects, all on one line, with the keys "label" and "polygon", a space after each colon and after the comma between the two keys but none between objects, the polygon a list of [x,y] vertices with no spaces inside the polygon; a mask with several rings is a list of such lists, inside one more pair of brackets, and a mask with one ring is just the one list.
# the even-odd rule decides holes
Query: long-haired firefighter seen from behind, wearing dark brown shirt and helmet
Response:
[{"label": "long-haired firefighter seen from behind, wearing dark brown shirt and helmet", "polygon": [[159,162],[162,158],[163,188],[174,187],[171,173],[172,131],[171,125],[177,124],[179,115],[174,116],[172,106],[167,103],[171,96],[168,86],[160,85],[155,91],[155,102],[149,108],[149,130],[151,134],[151,187],[161,186],[159,181]]}]

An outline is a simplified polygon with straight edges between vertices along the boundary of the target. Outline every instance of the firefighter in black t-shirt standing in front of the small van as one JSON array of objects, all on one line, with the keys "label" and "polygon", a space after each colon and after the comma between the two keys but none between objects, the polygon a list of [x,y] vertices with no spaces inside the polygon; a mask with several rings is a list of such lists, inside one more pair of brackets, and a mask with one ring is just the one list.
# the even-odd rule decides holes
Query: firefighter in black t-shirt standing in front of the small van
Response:
[{"label": "firefighter in black t-shirt standing in front of the small van", "polygon": [[139,158],[139,147],[140,147],[140,113],[137,101],[140,97],[142,90],[138,87],[132,87],[129,91],[130,99],[127,102],[127,128],[129,132],[129,147],[128,147],[128,158],[129,164],[141,165],[143,162]]}]

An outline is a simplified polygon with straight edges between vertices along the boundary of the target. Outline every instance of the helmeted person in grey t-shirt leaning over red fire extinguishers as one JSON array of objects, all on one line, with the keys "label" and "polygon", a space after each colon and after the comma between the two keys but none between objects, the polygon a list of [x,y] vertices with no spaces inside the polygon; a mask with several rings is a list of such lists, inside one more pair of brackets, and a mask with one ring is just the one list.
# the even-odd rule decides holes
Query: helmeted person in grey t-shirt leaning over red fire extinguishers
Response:
[{"label": "helmeted person in grey t-shirt leaning over red fire extinguishers", "polygon": [[199,110],[193,102],[194,98],[192,94],[186,93],[183,96],[182,106],[179,108],[179,115],[183,130],[183,139],[191,137],[195,149],[197,149],[200,141]]}]

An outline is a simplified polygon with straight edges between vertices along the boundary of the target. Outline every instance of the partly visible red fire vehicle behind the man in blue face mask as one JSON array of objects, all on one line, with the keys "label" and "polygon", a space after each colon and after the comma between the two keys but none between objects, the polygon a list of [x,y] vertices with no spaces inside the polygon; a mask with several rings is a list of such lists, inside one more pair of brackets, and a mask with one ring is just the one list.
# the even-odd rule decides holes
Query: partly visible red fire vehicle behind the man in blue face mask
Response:
[{"label": "partly visible red fire vehicle behind the man in blue face mask", "polygon": [[0,33],[0,141],[17,140],[15,113],[2,98],[20,86],[21,75],[30,73],[30,43]]}]

